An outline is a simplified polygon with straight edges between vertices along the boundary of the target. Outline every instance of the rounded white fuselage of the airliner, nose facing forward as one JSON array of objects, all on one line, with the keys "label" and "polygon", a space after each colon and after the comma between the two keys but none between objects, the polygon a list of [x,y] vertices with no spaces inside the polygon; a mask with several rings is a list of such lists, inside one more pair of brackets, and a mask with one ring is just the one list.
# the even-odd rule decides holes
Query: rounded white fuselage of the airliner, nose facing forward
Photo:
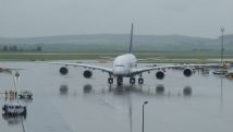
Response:
[{"label": "rounded white fuselage of the airliner, nose facing forward", "polygon": [[113,61],[114,76],[131,76],[132,69],[137,67],[137,59],[132,53],[118,56]]}]

